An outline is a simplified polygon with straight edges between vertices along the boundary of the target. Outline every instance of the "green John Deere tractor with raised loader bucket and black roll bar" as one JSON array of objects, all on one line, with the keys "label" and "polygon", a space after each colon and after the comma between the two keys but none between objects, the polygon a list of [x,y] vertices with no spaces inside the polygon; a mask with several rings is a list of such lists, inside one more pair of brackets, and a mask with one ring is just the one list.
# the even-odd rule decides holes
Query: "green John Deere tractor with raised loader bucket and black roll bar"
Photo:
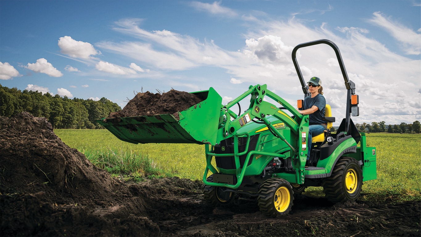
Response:
[{"label": "green John Deere tractor with raised loader bucket and black roll bar", "polygon": [[[322,186],[331,202],[354,201],[360,195],[362,182],[377,178],[376,148],[366,146],[365,133],[360,133],[351,120],[351,116],[359,115],[355,84],[348,79],[338,47],[330,40],[303,43],[292,51],[304,97],[309,95],[309,88],[298,66],[296,51],[317,44],[327,44],[336,53],[347,90],[346,114],[335,131],[335,117],[326,105],[325,133],[312,138],[308,167],[309,116],[301,115],[267,90],[266,85],[250,86],[226,105],[221,104],[222,98],[213,88],[194,92],[203,101],[178,116],[98,122],[121,140],[135,144],[206,144],[203,194],[215,206],[231,205],[237,194],[247,195],[257,198],[266,216],[282,216],[291,210],[294,194],[301,194],[309,186]],[[248,96],[248,109],[239,115],[234,113],[231,108]],[[276,103],[267,102],[265,97]],[[302,103],[303,100],[298,101]]]}]

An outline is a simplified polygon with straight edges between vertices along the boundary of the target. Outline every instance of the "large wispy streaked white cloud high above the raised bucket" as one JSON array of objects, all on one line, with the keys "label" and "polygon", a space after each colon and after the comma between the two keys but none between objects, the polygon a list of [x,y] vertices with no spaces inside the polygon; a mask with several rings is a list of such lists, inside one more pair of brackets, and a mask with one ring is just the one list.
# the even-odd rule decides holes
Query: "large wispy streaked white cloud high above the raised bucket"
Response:
[{"label": "large wispy streaked white cloud high above the raised bucket", "polygon": [[[237,52],[227,52],[216,46],[212,40],[201,43],[185,35],[163,31],[147,31],[138,27],[140,19],[117,21],[114,29],[133,37],[153,41],[153,44],[142,42],[122,43],[101,42],[96,44],[107,51],[119,53],[136,61],[158,69],[185,70],[203,65],[232,65]],[[157,50],[156,48],[162,48]]]}]

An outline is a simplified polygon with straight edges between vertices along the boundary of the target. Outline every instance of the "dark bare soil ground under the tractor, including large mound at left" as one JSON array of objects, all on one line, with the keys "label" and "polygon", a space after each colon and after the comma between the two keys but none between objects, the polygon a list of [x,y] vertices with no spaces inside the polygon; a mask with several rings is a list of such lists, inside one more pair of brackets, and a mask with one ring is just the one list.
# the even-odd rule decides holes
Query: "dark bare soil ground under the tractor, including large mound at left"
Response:
[{"label": "dark bare soil ground under the tractor, including large mound at left", "polygon": [[0,117],[0,154],[0,236],[420,236],[420,202],[302,195],[266,218],[249,198],[214,208],[201,181],[123,183],[27,112]]}]

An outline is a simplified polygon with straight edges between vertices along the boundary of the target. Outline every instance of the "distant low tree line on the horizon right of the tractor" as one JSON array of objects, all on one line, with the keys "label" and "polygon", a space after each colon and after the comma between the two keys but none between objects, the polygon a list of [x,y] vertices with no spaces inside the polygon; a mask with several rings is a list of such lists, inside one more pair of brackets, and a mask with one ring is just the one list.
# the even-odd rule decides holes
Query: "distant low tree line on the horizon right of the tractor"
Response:
[{"label": "distant low tree line on the horizon right of the tractor", "polygon": [[368,131],[369,133],[421,133],[420,121],[416,120],[413,123],[401,122],[400,124],[386,125],[386,122],[371,122],[362,124],[356,123],[355,126],[360,131]]}]

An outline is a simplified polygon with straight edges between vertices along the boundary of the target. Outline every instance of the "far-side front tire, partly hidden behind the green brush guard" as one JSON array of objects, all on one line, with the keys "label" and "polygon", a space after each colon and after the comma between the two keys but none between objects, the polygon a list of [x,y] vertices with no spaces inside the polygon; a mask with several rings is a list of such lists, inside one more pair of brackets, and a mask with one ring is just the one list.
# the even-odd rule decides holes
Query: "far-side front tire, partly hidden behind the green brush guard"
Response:
[{"label": "far-side front tire, partly hidden behind the green brush guard", "polygon": [[[213,175],[210,175],[206,181],[212,182]],[[216,207],[229,206],[234,202],[235,194],[232,192],[222,192],[224,187],[203,186],[203,199]]]}]

